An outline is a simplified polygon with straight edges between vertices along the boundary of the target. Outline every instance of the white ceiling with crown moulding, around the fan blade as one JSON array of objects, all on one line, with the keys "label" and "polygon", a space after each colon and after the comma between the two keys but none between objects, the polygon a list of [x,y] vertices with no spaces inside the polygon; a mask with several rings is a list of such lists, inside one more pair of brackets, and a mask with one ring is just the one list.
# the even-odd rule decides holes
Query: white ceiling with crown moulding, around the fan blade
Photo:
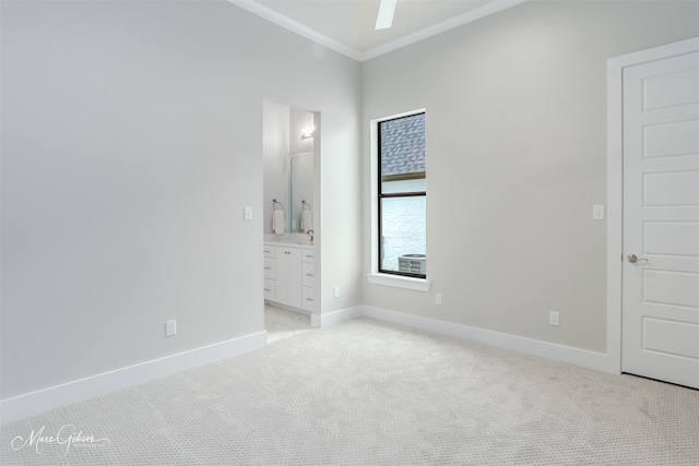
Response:
[{"label": "white ceiling with crown moulding, around the fan blade", "polygon": [[364,61],[525,0],[398,0],[393,25],[375,31],[380,0],[228,0]]}]

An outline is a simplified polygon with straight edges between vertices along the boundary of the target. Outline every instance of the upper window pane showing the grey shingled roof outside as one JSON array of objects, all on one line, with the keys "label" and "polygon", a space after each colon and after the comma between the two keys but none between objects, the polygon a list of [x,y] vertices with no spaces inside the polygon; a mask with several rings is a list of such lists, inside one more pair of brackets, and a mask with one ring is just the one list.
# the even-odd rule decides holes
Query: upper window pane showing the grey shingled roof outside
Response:
[{"label": "upper window pane showing the grey shingled roof outside", "polygon": [[[410,191],[425,191],[425,113],[413,115],[379,123],[381,133],[381,192],[395,189],[388,182],[420,180],[422,184],[407,183],[402,188]],[[399,192],[399,191],[392,191]]]}]

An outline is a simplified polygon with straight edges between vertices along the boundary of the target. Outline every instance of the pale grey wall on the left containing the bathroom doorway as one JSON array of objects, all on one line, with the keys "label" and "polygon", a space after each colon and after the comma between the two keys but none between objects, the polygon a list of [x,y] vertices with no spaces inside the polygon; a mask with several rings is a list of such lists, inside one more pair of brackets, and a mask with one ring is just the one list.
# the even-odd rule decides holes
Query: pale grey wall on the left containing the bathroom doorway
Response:
[{"label": "pale grey wall on the left containing the bathroom doorway", "polygon": [[320,298],[358,303],[358,63],[225,1],[1,8],[2,399],[263,330],[265,96],[322,115]]}]

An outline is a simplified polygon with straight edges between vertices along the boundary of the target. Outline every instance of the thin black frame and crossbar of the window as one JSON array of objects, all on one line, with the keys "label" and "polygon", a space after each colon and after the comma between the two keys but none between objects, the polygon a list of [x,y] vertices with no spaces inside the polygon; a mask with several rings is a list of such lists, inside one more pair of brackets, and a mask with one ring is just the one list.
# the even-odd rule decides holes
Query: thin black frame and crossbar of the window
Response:
[{"label": "thin black frame and crossbar of the window", "polygon": [[[376,139],[376,151],[377,151],[377,194],[378,194],[378,205],[377,205],[377,225],[378,225],[378,258],[377,258],[377,270],[379,272],[379,274],[388,274],[388,275],[396,275],[400,277],[406,277],[406,278],[417,278],[417,279],[422,279],[422,280],[426,280],[427,279],[427,273],[425,272],[424,274],[414,274],[414,273],[410,273],[410,272],[401,272],[401,271],[389,271],[389,270],[384,270],[382,268],[383,266],[383,261],[381,259],[381,256],[383,255],[383,242],[381,241],[382,239],[382,234],[383,234],[383,213],[382,213],[382,204],[383,204],[383,200],[384,199],[404,199],[404,198],[425,198],[425,202],[427,202],[427,189],[425,189],[425,191],[410,191],[410,192],[391,192],[391,193],[383,193],[382,192],[382,186],[383,186],[383,176],[381,175],[381,167],[382,167],[382,156],[381,156],[381,148],[382,148],[382,144],[381,144],[381,124],[386,123],[388,121],[395,121],[395,120],[402,120],[405,118],[412,118],[418,115],[423,115],[426,116],[426,111],[425,110],[420,110],[420,111],[415,111],[415,112],[411,112],[411,113],[406,113],[406,115],[401,115],[401,116],[396,116],[396,117],[392,117],[392,118],[386,118],[382,119],[380,121],[377,121],[377,139]],[[426,131],[426,130],[425,130]],[[425,155],[426,157],[427,155]],[[414,179],[424,179],[425,181],[427,180],[427,168],[425,168],[425,171],[422,172],[414,172],[414,174],[405,174],[405,175],[392,175],[388,177],[388,181],[399,181],[399,180],[414,180]],[[427,231],[425,231],[425,241],[427,241]],[[427,249],[427,244],[425,244],[425,249]],[[425,251],[427,252],[427,251]]]}]

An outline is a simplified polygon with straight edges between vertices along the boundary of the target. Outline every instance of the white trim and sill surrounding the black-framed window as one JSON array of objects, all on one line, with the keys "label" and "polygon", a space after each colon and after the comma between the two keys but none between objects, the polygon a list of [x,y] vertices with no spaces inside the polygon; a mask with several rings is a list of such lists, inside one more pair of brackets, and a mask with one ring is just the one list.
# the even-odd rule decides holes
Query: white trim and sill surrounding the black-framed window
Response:
[{"label": "white trim and sill surrounding the black-framed window", "polygon": [[369,122],[369,145],[370,145],[370,167],[371,167],[371,273],[367,274],[367,280],[372,285],[391,286],[394,288],[412,289],[415,291],[429,291],[431,282],[427,278],[406,277],[402,275],[381,274],[379,270],[379,226],[377,215],[379,211],[379,192],[378,192],[378,162],[379,152],[377,147],[378,126],[381,121],[393,120],[395,118],[408,117],[411,115],[426,113],[424,108],[405,111],[403,113],[392,115],[390,117],[378,118]]}]

